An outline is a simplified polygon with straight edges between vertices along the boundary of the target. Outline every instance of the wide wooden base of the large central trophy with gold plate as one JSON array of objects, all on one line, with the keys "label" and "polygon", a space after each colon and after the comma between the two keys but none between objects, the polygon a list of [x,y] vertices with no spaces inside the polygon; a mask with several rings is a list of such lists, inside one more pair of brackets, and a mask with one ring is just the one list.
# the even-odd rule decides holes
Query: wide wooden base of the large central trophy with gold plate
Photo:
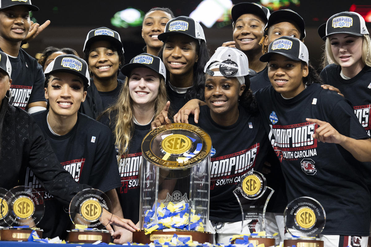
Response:
[{"label": "wide wooden base of the large central trophy with gold plate", "polygon": [[145,235],[144,230],[134,231],[133,233],[133,243],[138,244],[149,244],[155,240],[163,239],[165,241],[170,241],[171,238],[177,234],[178,237],[190,237],[191,241],[197,241],[198,243],[213,243],[214,234],[207,233],[204,231],[152,231],[152,233]]}]

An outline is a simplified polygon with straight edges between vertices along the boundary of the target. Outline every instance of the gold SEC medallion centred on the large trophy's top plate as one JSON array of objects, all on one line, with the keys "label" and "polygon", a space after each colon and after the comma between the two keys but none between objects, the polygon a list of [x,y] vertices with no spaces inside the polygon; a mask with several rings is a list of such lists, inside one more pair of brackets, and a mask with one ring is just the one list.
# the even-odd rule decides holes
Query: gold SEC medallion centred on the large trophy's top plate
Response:
[{"label": "gold SEC medallion centred on the large trophy's top plate", "polygon": [[162,140],[162,149],[170,154],[183,154],[192,146],[192,141],[189,137],[182,134],[173,134]]}]

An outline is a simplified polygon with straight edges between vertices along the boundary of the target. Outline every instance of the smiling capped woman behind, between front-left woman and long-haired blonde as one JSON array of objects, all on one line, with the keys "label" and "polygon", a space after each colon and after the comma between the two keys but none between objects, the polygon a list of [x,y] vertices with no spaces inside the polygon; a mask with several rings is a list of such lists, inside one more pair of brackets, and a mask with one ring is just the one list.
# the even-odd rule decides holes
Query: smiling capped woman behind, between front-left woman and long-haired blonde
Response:
[{"label": "smiling capped woman behind, between front-left woman and long-haired blonde", "polygon": [[119,69],[125,63],[124,49],[116,31],[101,27],[89,31],[83,51],[92,83],[80,112],[96,119],[118,98],[124,83],[117,79]]}]

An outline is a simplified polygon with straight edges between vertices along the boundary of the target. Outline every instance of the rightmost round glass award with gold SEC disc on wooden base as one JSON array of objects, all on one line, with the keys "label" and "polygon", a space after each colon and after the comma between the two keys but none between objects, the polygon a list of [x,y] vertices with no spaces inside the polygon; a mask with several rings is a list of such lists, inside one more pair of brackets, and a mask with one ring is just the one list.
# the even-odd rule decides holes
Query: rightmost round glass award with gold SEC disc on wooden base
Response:
[{"label": "rightmost round glass award with gold SEC disc on wooden base", "polygon": [[286,230],[293,236],[286,238],[284,246],[323,247],[324,242],[318,237],[326,223],[326,214],[322,205],[311,197],[299,197],[292,200],[283,213]]}]

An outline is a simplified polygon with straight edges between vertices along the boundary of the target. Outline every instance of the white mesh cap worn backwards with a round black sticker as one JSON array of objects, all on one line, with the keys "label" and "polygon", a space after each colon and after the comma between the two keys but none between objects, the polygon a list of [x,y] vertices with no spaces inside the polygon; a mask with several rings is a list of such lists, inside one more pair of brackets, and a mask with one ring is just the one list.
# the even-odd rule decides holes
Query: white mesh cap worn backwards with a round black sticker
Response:
[{"label": "white mesh cap worn backwards with a round black sticker", "polygon": [[[219,71],[212,71],[212,69],[219,69]],[[250,71],[253,70],[249,70],[246,54],[234,47],[218,47],[204,68],[204,72],[211,76],[226,77],[243,77],[249,75]],[[244,80],[241,84],[244,84]]]}]

